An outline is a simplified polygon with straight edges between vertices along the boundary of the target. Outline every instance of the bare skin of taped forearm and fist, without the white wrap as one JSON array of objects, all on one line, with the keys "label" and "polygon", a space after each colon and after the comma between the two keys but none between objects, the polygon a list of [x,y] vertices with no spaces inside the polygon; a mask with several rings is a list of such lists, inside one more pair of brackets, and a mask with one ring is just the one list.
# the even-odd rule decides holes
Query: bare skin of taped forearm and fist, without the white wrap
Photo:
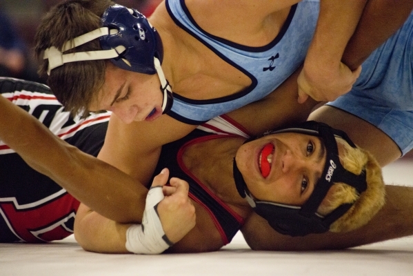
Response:
[{"label": "bare skin of taped forearm and fist, without the white wrap", "polygon": [[[152,186],[164,186],[168,170],[154,178]],[[179,242],[195,225],[195,208],[188,198],[188,183],[172,178],[171,186],[163,187],[165,198],[157,211],[163,231],[172,243]],[[173,214],[173,215],[170,215]],[[74,236],[83,249],[98,253],[129,253],[126,231],[131,224],[119,224],[81,204],[74,222]]]}]

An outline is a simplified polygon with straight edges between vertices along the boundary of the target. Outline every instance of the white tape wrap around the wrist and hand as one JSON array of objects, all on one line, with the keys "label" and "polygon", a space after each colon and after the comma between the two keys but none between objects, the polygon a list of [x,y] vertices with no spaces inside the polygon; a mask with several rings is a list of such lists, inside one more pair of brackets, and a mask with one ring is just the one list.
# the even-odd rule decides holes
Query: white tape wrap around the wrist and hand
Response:
[{"label": "white tape wrap around the wrist and hand", "polygon": [[126,231],[126,249],[135,254],[160,254],[172,246],[163,232],[157,205],[163,199],[162,186],[150,188],[146,197],[142,224],[134,224]]}]

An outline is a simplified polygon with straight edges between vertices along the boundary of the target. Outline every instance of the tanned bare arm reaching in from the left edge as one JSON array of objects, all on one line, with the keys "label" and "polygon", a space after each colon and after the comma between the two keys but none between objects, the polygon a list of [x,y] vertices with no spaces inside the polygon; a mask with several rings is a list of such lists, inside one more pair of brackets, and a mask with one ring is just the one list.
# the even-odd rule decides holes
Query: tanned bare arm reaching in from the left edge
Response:
[{"label": "tanned bare arm reaching in from the left edge", "polygon": [[147,189],[132,177],[59,139],[0,97],[0,139],[32,168],[79,201],[116,221],[141,221]]}]

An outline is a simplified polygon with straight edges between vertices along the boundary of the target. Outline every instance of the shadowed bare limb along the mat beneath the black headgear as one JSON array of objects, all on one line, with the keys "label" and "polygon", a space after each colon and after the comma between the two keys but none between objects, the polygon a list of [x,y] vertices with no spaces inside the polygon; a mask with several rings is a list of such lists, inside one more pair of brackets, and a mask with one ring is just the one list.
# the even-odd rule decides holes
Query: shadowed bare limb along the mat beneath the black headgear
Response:
[{"label": "shadowed bare limb along the mat beneath the black headgear", "polygon": [[413,187],[386,186],[386,204],[365,226],[349,233],[289,237],[253,214],[241,229],[254,250],[341,249],[413,235]]}]

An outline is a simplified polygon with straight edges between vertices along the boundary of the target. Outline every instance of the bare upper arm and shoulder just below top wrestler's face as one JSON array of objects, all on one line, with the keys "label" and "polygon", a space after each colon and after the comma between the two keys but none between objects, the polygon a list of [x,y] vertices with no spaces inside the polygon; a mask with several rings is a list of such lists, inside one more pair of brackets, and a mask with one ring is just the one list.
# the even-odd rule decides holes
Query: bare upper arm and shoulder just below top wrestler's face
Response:
[{"label": "bare upper arm and shoulder just below top wrestler's face", "polygon": [[132,124],[124,124],[112,115],[98,158],[148,184],[161,146],[184,137],[194,128],[196,126],[183,124],[168,115]]}]

